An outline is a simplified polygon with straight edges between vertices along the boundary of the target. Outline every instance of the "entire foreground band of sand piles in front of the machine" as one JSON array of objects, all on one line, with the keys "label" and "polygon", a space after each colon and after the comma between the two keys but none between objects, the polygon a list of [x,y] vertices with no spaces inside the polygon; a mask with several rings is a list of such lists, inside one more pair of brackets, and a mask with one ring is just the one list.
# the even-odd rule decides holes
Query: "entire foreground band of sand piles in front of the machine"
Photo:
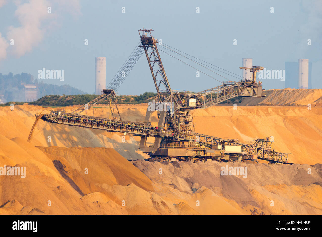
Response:
[{"label": "entire foreground band of sand piles in front of the machine", "polygon": [[[0,176],[0,214],[322,213],[321,164],[129,162],[112,148],[0,142],[2,166],[26,167]],[[226,164],[247,178],[220,175]]]}]

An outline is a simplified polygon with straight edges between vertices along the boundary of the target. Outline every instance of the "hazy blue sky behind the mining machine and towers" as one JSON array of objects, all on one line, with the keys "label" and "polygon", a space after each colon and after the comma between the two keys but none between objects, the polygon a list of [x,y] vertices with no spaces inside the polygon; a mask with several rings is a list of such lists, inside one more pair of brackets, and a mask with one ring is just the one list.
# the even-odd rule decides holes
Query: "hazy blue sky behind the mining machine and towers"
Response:
[{"label": "hazy blue sky behind the mining machine and towers", "polygon": [[[1,73],[24,72],[37,78],[37,71],[44,67],[65,70],[64,82],[43,81],[70,84],[92,94],[95,57],[106,57],[107,85],[139,42],[138,29],[145,27],[154,29],[153,36],[163,43],[238,75],[242,58],[252,58],[253,65],[271,70],[308,58],[312,87],[322,87],[321,1],[66,2],[0,0]],[[270,13],[271,7],[274,13]],[[10,45],[12,38],[14,45]],[[89,45],[84,45],[85,39]],[[233,45],[234,39],[237,45]],[[196,78],[195,69],[162,52],[160,55],[174,90],[198,92],[220,84],[203,74]],[[279,79],[261,81],[267,90],[285,87]],[[143,55],[118,93],[146,91],[155,92],[155,87]]]}]

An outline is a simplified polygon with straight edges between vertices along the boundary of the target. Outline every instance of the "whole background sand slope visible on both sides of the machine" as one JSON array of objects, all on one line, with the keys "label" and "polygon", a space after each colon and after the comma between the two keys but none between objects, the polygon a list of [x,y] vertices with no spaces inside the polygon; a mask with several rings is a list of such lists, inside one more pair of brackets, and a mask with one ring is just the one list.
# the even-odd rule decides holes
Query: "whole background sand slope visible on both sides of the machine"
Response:
[{"label": "whole background sand slope visible on both sides of the machine", "polygon": [[[120,113],[125,120],[144,121],[146,105],[121,105]],[[72,111],[74,107],[66,107]],[[0,107],[0,133],[8,138],[27,139],[35,120],[34,114],[42,112],[40,106],[16,105]],[[93,113],[91,109],[89,114]],[[242,142],[256,137],[274,136],[275,148],[292,153],[289,161],[293,163],[322,163],[322,107],[312,106],[213,106],[192,112],[195,131],[223,138],[238,138]],[[107,117],[106,108],[95,108],[94,115]],[[156,125],[156,113],[152,124]],[[48,136],[51,141],[48,142]],[[140,152],[139,137],[90,130],[87,128],[50,124],[40,121],[34,132],[33,145],[61,147],[111,147],[127,159],[145,159]],[[148,138],[152,142],[153,138]]]}]

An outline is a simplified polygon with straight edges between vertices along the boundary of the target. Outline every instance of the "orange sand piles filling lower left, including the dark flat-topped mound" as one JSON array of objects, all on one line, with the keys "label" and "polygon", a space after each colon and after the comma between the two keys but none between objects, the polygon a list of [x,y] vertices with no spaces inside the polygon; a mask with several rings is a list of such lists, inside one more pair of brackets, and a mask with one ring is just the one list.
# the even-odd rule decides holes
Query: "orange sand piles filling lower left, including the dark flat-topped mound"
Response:
[{"label": "orange sand piles filling lower left, including the dark flat-topped mound", "polygon": [[177,214],[111,148],[37,148],[4,136],[0,142],[1,166],[26,167],[25,178],[0,176],[0,214]]}]

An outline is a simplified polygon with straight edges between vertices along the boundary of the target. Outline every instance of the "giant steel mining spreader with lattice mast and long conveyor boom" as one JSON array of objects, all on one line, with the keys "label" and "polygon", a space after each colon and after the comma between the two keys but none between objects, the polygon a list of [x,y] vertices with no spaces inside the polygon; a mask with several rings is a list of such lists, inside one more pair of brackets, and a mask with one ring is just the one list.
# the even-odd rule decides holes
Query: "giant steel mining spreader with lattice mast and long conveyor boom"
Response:
[{"label": "giant steel mining spreader with lattice mast and long conveyor boom", "polygon": [[[269,163],[287,163],[288,153],[276,151],[274,140],[270,136],[255,138],[251,142],[242,143],[237,139],[223,139],[194,131],[195,123],[191,116],[191,111],[194,109],[208,108],[237,96],[266,96],[261,82],[256,80],[257,73],[263,67],[252,65],[240,67],[240,69],[246,71],[245,74],[247,73],[246,80],[240,82],[221,82],[221,85],[199,93],[172,90],[162,64],[159,50],[164,53],[166,53],[165,50],[169,50],[179,55],[182,55],[183,52],[180,51],[179,53],[178,50],[167,44],[158,45],[158,40],[152,36],[152,31],[152,29],[144,28],[139,30],[140,43],[119,70],[119,72],[130,71],[136,64],[138,58],[145,53],[157,92],[153,103],[156,103],[157,106],[148,106],[144,122],[131,122],[121,119],[117,104],[115,103],[115,90],[122,84],[124,77],[121,74],[117,74],[107,88],[102,89],[102,94],[99,97],[82,105],[71,113],[66,113],[65,110],[52,110],[46,114],[35,114],[36,121],[33,124],[28,141],[32,138],[32,133],[37,122],[42,119],[49,123],[140,136],[139,149],[150,156],[147,159],[149,161],[198,162],[216,160],[222,162],[257,162],[257,159],[262,159]],[[249,63],[250,61],[245,60],[244,65],[250,65]],[[103,99],[107,99],[109,102],[109,110],[112,114],[111,118],[81,114]],[[155,109],[151,109],[151,107]],[[155,111],[157,111],[158,123],[157,126],[152,126],[151,117]],[[216,126],[216,124],[213,124],[213,126]],[[218,129],[221,128],[218,127]],[[147,137],[155,138],[153,145],[148,146],[146,144]]]}]

